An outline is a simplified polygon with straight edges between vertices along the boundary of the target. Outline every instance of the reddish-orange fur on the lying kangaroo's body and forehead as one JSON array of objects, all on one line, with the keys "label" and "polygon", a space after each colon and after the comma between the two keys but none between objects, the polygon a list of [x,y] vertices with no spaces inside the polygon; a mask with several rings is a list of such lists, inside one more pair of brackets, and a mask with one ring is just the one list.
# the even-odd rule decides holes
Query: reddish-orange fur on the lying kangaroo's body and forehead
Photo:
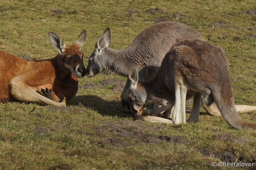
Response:
[{"label": "reddish-orange fur on the lying kangaroo's body and forehead", "polygon": [[[66,48],[65,53],[81,53],[75,50],[75,45]],[[79,51],[79,52],[78,52]],[[67,101],[76,95],[78,90],[78,79],[75,76],[68,76],[59,70],[58,57],[47,60],[26,60],[0,50],[0,102],[13,101],[10,94],[9,82],[17,76],[22,75],[24,84],[32,87],[37,92],[42,89],[52,89],[61,98],[65,96]]]}]

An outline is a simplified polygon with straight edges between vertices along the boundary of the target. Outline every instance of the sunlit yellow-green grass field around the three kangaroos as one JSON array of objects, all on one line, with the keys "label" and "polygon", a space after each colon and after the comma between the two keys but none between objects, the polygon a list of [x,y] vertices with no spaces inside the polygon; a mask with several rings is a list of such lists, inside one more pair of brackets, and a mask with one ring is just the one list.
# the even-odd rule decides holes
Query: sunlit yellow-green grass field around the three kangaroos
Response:
[{"label": "sunlit yellow-green grass field around the three kangaroos", "polygon": [[[225,50],[231,77],[235,80],[236,104],[256,105],[256,15],[243,12],[255,7],[256,2],[252,0],[2,0],[0,49],[16,56],[52,58],[57,51],[48,40],[49,31],[70,45],[86,29],[87,41],[82,50],[84,56],[89,57],[98,36],[107,27],[112,34],[109,47],[122,49],[152,25],[154,19],[169,17],[187,23],[206,41]],[[160,8],[168,14],[147,12],[151,8]],[[173,18],[176,13],[181,19]],[[87,59],[84,64],[88,64]],[[125,80],[118,75],[99,74],[80,79],[79,85],[112,78]],[[128,110],[122,107],[120,94],[120,91],[111,90],[111,85],[80,88],[76,97],[68,102],[68,110],[20,102],[0,104],[1,169],[229,168],[213,167],[211,162],[219,162],[220,158],[205,157],[201,150],[229,151],[242,162],[256,162],[256,132],[234,130],[219,117],[202,114],[200,123],[173,126],[149,122],[142,124],[144,128],[119,125],[123,121],[134,123],[131,114],[125,113]],[[240,116],[256,123],[256,112]],[[140,122],[135,123],[140,125]],[[182,136],[188,143],[162,141],[149,144],[132,137],[121,137],[131,146],[117,148],[100,144],[118,134],[118,131],[110,132],[104,128],[117,125],[137,135]],[[250,142],[220,140],[219,135],[228,133],[237,138],[248,138]]]}]

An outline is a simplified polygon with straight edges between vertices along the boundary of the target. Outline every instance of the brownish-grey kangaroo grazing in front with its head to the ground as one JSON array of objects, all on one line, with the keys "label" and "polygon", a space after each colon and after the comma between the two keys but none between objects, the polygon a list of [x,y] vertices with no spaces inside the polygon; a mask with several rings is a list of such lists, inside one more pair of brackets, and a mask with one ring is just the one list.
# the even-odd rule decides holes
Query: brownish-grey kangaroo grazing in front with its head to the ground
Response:
[{"label": "brownish-grey kangaroo grazing in front with its head to the ground", "polygon": [[[144,77],[146,73],[142,73],[141,77]],[[166,122],[185,123],[186,97],[194,96],[188,122],[198,122],[203,97],[206,105],[215,101],[222,117],[232,128],[256,128],[256,124],[245,122],[237,114],[226,54],[211,43],[195,39],[179,41],[165,55],[153,79],[138,81],[138,71],[132,68],[129,80],[128,99],[135,114],[141,112],[146,100],[150,99],[162,105],[158,109],[161,112],[174,106],[172,120]],[[163,118],[148,116],[144,119],[157,121]]]}]

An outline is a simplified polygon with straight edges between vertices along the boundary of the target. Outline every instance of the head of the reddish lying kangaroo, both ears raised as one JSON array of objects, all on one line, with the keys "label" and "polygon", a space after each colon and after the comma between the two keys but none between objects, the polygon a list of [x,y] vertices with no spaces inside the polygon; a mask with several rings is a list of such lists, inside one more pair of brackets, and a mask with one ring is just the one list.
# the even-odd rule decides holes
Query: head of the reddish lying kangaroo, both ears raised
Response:
[{"label": "head of the reddish lying kangaroo, both ears raised", "polygon": [[77,78],[84,77],[86,69],[83,62],[84,54],[81,49],[86,41],[86,30],[83,30],[76,42],[70,46],[66,46],[61,38],[53,32],[49,32],[49,40],[52,47],[59,51],[60,68]]}]

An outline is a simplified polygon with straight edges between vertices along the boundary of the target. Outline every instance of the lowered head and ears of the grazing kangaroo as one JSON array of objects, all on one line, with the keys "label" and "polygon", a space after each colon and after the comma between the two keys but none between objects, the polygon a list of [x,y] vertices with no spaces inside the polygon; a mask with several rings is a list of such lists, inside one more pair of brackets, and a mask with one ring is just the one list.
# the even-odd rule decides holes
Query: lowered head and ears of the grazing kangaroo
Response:
[{"label": "lowered head and ears of the grazing kangaroo", "polygon": [[128,96],[128,102],[134,116],[141,116],[143,108],[147,105],[147,92],[143,85],[138,82],[142,81],[146,75],[146,71],[140,71],[141,69],[146,70],[146,65],[140,66],[140,74],[136,68],[132,68],[129,72],[130,88],[126,95]]}]

